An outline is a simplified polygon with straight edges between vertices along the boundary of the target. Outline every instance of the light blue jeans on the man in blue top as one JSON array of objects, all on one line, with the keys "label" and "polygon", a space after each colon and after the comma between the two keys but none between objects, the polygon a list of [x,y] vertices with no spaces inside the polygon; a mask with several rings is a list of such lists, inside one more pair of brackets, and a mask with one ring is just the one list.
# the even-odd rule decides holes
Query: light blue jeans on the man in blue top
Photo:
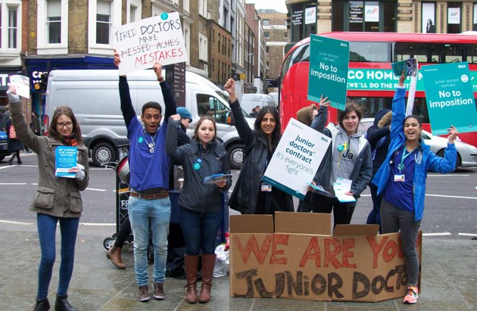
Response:
[{"label": "light blue jeans on the man in blue top", "polygon": [[127,210],[134,235],[134,272],[138,286],[147,285],[147,244],[149,223],[154,245],[154,282],[162,283],[166,275],[167,236],[171,219],[171,201],[164,199],[146,200],[130,197]]}]

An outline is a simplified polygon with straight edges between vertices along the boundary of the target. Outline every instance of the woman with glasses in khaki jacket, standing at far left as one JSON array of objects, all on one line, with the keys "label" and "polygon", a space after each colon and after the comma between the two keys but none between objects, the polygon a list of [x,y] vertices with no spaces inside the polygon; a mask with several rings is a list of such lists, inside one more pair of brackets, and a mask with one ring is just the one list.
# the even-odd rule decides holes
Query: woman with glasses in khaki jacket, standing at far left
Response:
[{"label": "woman with glasses in khaki jacket, standing at far left", "polygon": [[[21,101],[16,89],[8,92],[16,136],[32,147],[38,155],[38,190],[30,210],[36,212],[41,261],[38,268],[38,290],[35,311],[49,310],[48,287],[56,258],[56,225],[60,223],[61,264],[56,292],[55,310],[75,311],[68,301],[68,288],[73,274],[75,242],[79,217],[83,210],[80,191],[89,182],[88,149],[83,144],[81,129],[75,114],[68,106],[56,108],[51,117],[48,136],[36,136],[21,112]],[[59,146],[77,148],[77,165],[70,169],[75,178],[56,177],[55,153]]]}]

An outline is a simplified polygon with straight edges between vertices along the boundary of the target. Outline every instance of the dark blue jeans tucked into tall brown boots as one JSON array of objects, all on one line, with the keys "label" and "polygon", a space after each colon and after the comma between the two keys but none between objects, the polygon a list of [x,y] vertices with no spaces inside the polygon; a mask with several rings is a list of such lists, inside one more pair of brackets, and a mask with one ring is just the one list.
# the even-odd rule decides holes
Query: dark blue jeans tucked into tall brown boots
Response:
[{"label": "dark blue jeans tucked into tall brown boots", "polygon": [[215,253],[215,241],[222,222],[222,210],[201,213],[180,208],[179,222],[186,242],[186,255],[199,255],[200,250],[204,255]]}]

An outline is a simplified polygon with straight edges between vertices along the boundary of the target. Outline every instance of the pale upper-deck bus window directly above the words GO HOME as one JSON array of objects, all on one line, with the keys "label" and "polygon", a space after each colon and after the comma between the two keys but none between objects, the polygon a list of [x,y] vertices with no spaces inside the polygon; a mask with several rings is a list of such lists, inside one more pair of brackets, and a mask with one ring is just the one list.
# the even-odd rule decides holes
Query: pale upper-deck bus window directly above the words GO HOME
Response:
[{"label": "pale upper-deck bus window directly above the words GO HOME", "polygon": [[350,62],[389,62],[389,43],[350,42]]}]

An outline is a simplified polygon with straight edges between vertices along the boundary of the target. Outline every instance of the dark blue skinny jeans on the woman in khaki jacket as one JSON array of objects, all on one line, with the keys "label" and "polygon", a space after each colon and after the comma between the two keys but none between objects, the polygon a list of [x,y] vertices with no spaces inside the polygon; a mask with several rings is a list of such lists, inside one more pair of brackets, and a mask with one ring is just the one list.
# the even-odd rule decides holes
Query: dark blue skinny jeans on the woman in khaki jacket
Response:
[{"label": "dark blue skinny jeans on the woman in khaki jacket", "polygon": [[69,282],[73,274],[75,260],[75,243],[79,218],[63,218],[36,214],[38,238],[40,240],[41,261],[38,267],[38,292],[36,300],[46,299],[48,287],[56,258],[56,223],[60,221],[61,231],[61,264],[58,296],[66,296]]}]

